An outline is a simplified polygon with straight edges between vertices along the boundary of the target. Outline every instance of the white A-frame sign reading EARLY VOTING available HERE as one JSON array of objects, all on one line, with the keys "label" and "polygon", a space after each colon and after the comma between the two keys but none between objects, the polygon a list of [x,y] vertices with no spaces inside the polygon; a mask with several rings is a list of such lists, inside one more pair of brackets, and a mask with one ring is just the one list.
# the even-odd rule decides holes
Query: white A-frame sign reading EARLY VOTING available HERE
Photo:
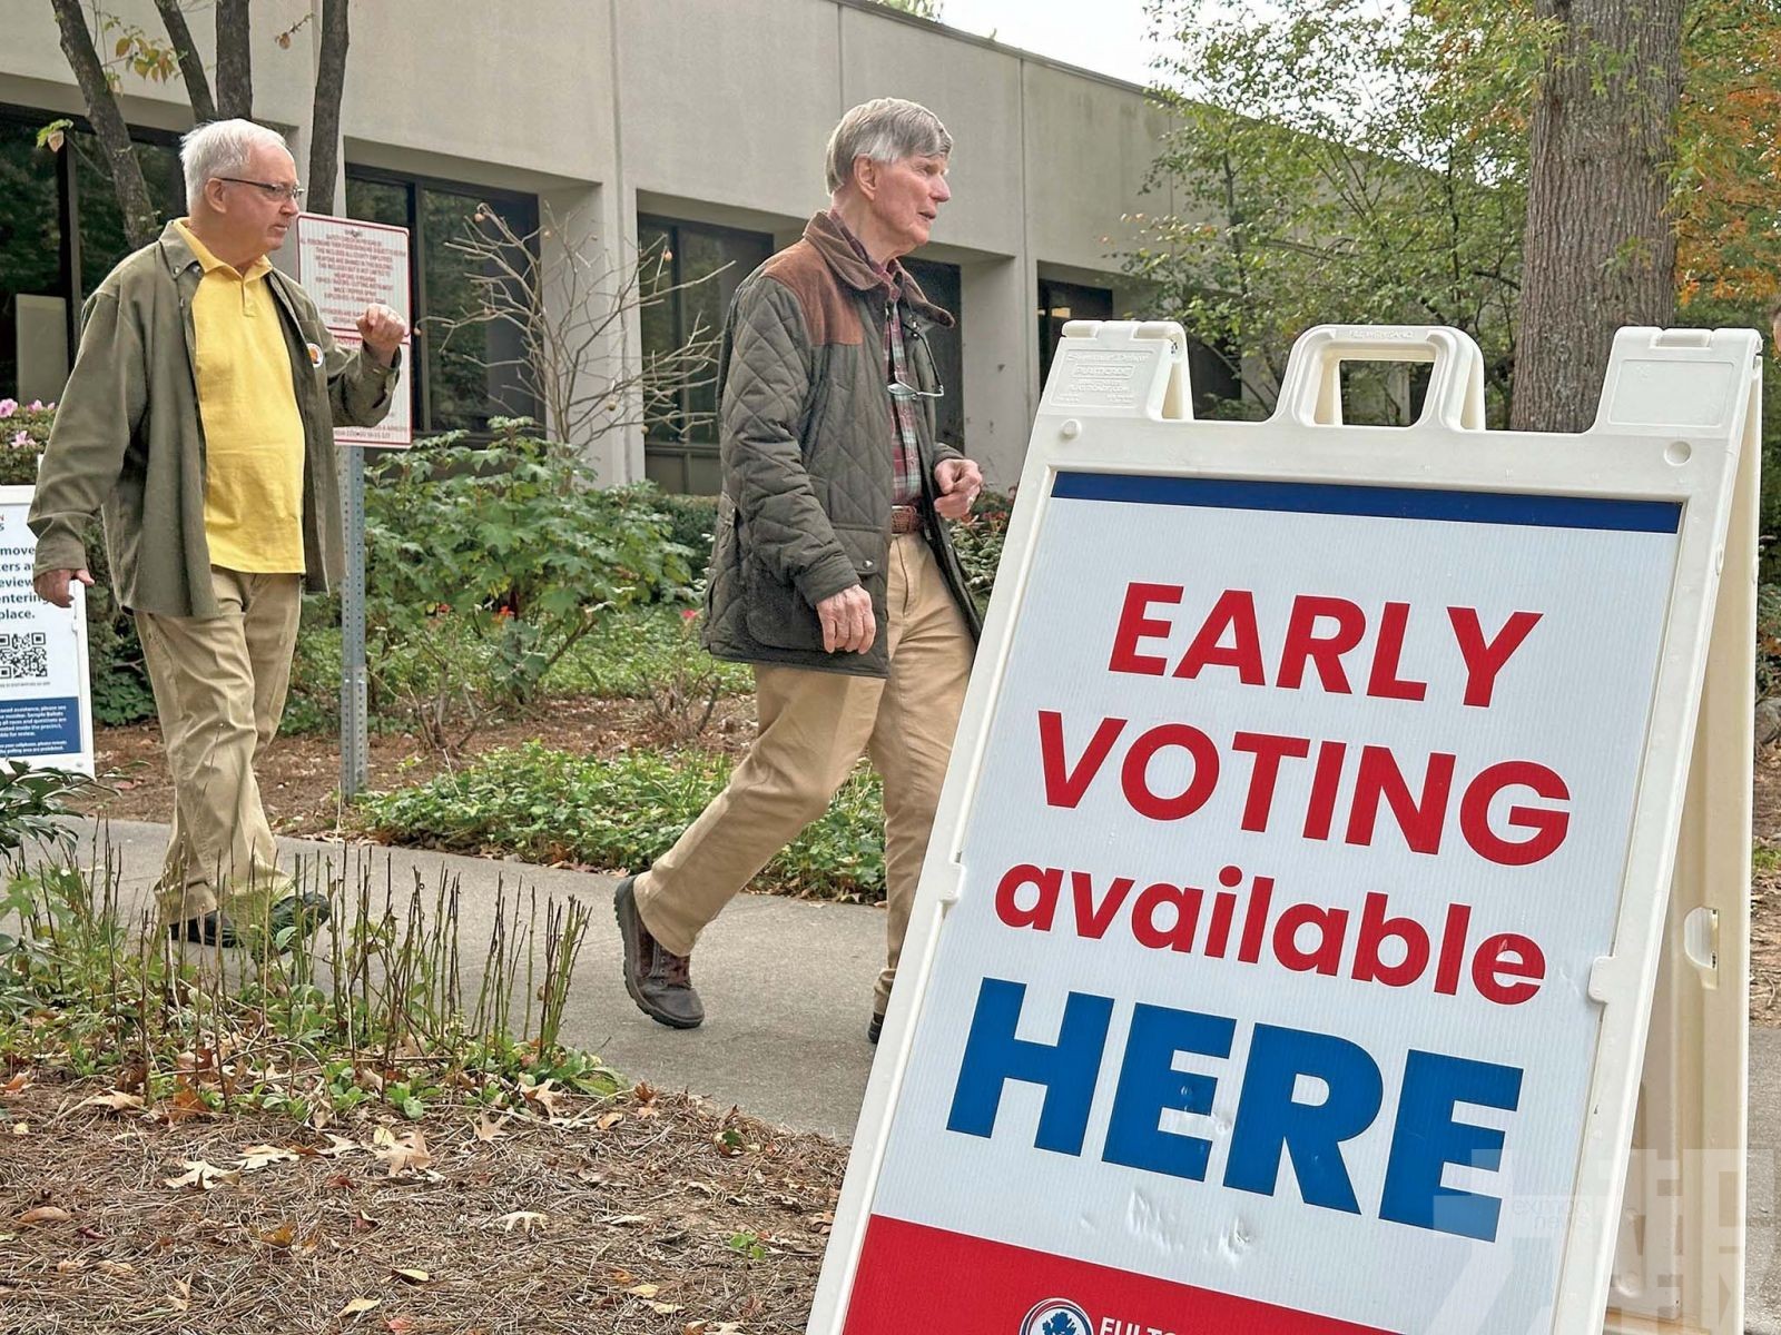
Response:
[{"label": "white A-frame sign reading EARLY VOTING available HERE", "polygon": [[1541,436],[1065,333],[810,1331],[1740,1330],[1756,335]]}]

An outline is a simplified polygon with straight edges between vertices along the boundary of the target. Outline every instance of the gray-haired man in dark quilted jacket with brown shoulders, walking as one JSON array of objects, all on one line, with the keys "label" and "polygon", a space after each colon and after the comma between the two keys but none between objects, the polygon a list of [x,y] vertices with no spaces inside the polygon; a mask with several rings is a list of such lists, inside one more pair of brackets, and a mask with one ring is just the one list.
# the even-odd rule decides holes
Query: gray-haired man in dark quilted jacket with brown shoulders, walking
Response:
[{"label": "gray-haired man in dark quilted jacket with brown shoulders, walking", "polygon": [[899,258],[951,198],[926,107],[880,98],[828,141],[830,208],[736,292],[725,322],[723,497],[705,646],[753,664],[760,730],[728,787],[618,886],[625,988],[650,1018],[705,1018],[700,931],[821,815],[864,751],[885,789],[889,959],[876,1043],[958,728],[978,616],[947,520],[983,488],[933,434],[944,393],[923,331],[951,326]]}]

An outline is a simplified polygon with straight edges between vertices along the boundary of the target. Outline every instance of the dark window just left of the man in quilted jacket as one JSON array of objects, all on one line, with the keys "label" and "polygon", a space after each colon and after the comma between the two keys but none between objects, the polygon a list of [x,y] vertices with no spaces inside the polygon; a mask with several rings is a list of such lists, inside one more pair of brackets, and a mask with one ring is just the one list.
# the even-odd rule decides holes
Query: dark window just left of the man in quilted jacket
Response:
[{"label": "dark window just left of the man in quilted jacket", "polygon": [[[773,237],[670,217],[638,217],[643,263],[643,363],[671,356],[693,338],[723,329],[730,297],[773,255]],[[652,299],[663,294],[659,299]],[[714,495],[723,488],[718,463],[716,367],[696,383],[647,393],[645,473],[664,491]]]}]

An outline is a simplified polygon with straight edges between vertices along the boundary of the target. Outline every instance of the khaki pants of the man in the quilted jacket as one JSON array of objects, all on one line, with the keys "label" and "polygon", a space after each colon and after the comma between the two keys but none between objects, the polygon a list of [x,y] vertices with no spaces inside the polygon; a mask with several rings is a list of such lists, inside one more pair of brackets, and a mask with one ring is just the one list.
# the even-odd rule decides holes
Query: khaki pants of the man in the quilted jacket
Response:
[{"label": "khaki pants of the man in the quilted jacket", "polygon": [[896,981],[972,653],[928,543],[919,534],[892,538],[887,564],[890,676],[755,668],[753,748],[705,813],[636,881],[643,926],[668,951],[691,954],[705,924],[823,813],[866,751],[885,785],[880,1013]]}]

